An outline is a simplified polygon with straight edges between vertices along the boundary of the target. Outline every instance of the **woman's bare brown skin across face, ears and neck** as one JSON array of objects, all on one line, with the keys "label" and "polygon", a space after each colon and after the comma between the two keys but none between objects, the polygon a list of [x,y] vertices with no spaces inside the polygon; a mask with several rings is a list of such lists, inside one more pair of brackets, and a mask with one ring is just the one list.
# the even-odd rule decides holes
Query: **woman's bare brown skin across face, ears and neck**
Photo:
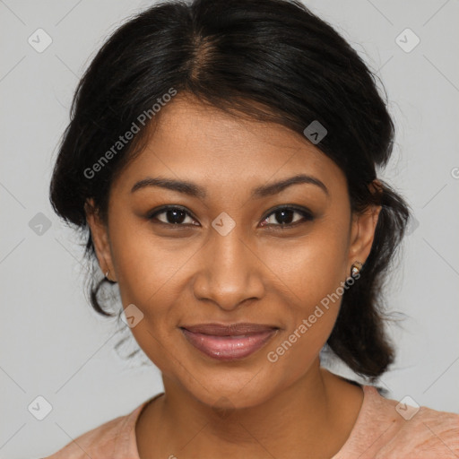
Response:
[{"label": "woman's bare brown skin across face, ears and neck", "polygon": [[[267,353],[342,285],[355,261],[365,262],[380,207],[352,214],[342,170],[283,126],[181,96],[156,121],[146,148],[112,184],[108,224],[91,200],[87,206],[100,268],[118,282],[123,306],[143,312],[132,333],[162,373],[165,394],[135,427],[140,457],[331,457],[363,401],[358,386],[319,365],[341,301],[276,362]],[[321,180],[328,195],[312,184],[250,195],[299,173]],[[195,182],[207,197],[153,186],[131,193],[139,180],[159,176]],[[170,212],[148,219],[166,204],[186,208],[182,227]],[[280,230],[282,215],[273,210],[281,204],[305,207],[314,219],[294,210],[285,221],[302,223]],[[212,227],[221,212],[236,224],[225,236]],[[197,351],[178,328],[210,322],[280,330],[249,357],[223,362]]]}]

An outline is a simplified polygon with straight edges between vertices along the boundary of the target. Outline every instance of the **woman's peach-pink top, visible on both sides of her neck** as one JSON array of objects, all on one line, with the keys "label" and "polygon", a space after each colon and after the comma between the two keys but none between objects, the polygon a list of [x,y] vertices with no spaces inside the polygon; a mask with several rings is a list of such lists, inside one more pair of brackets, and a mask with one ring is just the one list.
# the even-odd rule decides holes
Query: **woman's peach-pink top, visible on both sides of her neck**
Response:
[{"label": "woman's peach-pink top, visible on both sides of her neck", "polygon": [[[459,414],[421,406],[410,420],[410,408],[363,385],[363,403],[351,435],[331,459],[448,459],[459,457]],[[159,397],[158,394],[150,400]],[[45,459],[140,459],[135,421],[147,403],[77,437]]]}]

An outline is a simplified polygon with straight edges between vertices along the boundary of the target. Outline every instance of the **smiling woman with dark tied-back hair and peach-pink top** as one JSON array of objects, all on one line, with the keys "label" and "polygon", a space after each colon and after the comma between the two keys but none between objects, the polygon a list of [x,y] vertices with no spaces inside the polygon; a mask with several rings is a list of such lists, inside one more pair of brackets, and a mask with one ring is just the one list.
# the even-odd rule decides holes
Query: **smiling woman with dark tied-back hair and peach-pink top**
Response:
[{"label": "smiling woman with dark tied-back hair and peach-pink top", "polygon": [[410,212],[377,178],[394,125],[357,53],[302,4],[157,4],[74,97],[51,202],[89,229],[164,393],[55,455],[457,457],[459,416],[385,399],[381,287]]}]

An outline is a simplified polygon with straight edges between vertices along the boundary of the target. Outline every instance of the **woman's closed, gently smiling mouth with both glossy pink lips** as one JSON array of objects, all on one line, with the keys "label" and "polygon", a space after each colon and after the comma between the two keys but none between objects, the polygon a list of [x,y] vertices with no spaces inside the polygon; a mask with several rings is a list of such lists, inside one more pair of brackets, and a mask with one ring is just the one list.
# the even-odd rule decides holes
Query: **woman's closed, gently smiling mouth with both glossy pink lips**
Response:
[{"label": "woman's closed, gently smiling mouth with both glossy pink lips", "polygon": [[260,350],[279,331],[263,324],[200,324],[180,327],[195,349],[218,360],[245,359]]}]

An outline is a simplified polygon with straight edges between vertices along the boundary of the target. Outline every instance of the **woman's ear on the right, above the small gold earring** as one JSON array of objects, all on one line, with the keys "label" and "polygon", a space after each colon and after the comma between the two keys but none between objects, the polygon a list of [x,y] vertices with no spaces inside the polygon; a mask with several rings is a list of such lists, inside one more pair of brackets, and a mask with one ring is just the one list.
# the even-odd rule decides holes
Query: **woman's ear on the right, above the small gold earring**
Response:
[{"label": "woman's ear on the right, above the small gold earring", "polygon": [[[374,185],[370,186],[370,189],[371,188],[373,188],[372,192],[375,192],[375,188],[379,188],[379,192],[382,192],[382,186],[378,180],[374,181]],[[351,273],[351,266],[353,263],[359,261],[361,264],[365,264],[367,261],[371,247],[373,246],[375,230],[381,209],[382,207],[380,205],[372,204],[368,206],[365,212],[352,215],[348,260],[349,266],[347,273]]]}]

